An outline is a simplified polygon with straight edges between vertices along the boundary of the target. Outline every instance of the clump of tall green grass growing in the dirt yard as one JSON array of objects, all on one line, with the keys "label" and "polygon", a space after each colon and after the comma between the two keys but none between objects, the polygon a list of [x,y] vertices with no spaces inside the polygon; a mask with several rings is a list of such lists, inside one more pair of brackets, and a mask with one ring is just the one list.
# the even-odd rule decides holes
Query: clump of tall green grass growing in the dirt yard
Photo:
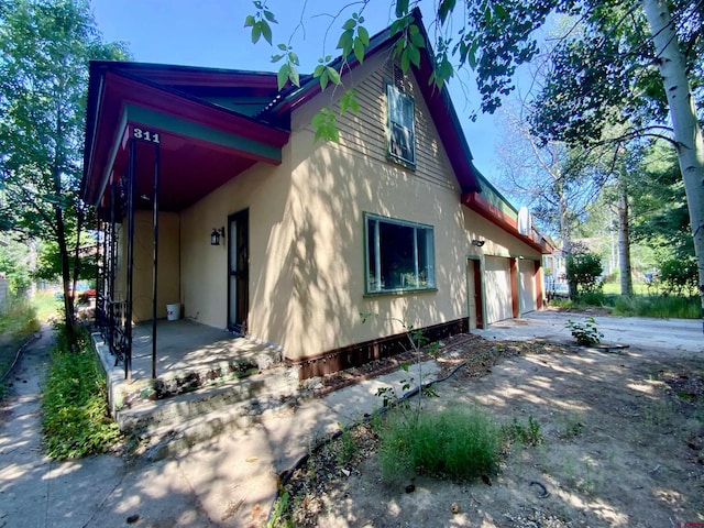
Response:
[{"label": "clump of tall green grass growing in the dirt yard", "polygon": [[498,463],[501,428],[476,407],[433,414],[397,410],[378,435],[378,462],[387,481],[408,472],[472,480],[493,473]]}]

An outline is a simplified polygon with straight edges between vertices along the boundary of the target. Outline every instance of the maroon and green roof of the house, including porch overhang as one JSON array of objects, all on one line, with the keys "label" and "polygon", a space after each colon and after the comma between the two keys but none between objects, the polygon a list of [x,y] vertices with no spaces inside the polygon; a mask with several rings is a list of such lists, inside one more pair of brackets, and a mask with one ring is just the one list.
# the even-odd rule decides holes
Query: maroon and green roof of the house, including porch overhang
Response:
[{"label": "maroon and green roof of the house, including porch overhang", "polygon": [[[420,50],[420,67],[414,68],[418,88],[430,111],[462,191],[462,202],[539,251],[543,241],[518,233],[512,215],[480,196],[486,182],[472,164],[457,111],[447,87],[428,82],[432,50],[419,9],[413,11],[427,46]],[[391,29],[375,34],[365,57],[388,53],[400,35]],[[340,67],[342,58],[331,63]],[[360,62],[348,57],[345,69]],[[288,142],[290,114],[321,92],[320,82],[300,76],[300,86],[277,89],[274,73],[131,62],[91,62],[88,87],[84,179],[81,196],[94,205],[109,202],[109,184],[127,170],[127,145],[135,127],[165,131],[161,147],[179,152],[162,156],[168,174],[160,189],[161,205],[179,210],[206,196],[257,162],[278,164]],[[148,145],[147,145],[148,146]],[[153,195],[153,155],[141,144],[136,164],[136,196]],[[141,153],[141,154],[140,154]],[[491,186],[490,186],[491,187]],[[491,193],[490,193],[491,194]],[[501,198],[506,207],[510,205]]]}]

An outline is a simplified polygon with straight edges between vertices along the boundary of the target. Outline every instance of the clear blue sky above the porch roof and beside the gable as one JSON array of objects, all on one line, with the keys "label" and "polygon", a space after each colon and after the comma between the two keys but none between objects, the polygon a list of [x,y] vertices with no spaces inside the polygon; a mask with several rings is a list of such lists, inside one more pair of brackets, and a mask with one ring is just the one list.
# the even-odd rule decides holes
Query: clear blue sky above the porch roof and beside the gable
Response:
[{"label": "clear blue sky above the porch roof and beside the gable", "polygon": [[[300,72],[311,73],[318,58],[324,54],[338,55],[334,47],[340,26],[351,10],[332,25],[331,16],[326,13],[337,14],[348,3],[351,2],[270,0],[267,4],[278,20],[278,24],[272,26],[274,45],[288,42],[294,35],[293,45],[301,59]],[[421,9],[431,10],[433,3],[422,2]],[[245,16],[254,12],[249,0],[92,0],[91,4],[103,38],[125,42],[134,61],[261,72],[278,69],[271,62],[275,47],[263,40],[253,45],[250,30],[244,28]],[[389,24],[389,1],[367,4],[363,14],[370,33]],[[424,11],[424,20],[429,24],[432,11]],[[469,98],[468,90],[471,90]],[[499,135],[494,118],[484,116],[474,123],[468,118],[480,100],[468,74],[452,79],[450,92],[475,165],[496,184],[495,143]]]}]

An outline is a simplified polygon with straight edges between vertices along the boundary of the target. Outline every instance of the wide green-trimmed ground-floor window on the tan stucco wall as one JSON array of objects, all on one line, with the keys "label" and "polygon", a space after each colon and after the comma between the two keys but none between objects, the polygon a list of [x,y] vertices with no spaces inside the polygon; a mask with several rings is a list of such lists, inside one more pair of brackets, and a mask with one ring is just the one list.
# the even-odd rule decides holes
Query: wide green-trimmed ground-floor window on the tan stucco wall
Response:
[{"label": "wide green-trimmed ground-floor window on the tan stucco wall", "polygon": [[430,226],[365,216],[366,293],[435,289]]}]

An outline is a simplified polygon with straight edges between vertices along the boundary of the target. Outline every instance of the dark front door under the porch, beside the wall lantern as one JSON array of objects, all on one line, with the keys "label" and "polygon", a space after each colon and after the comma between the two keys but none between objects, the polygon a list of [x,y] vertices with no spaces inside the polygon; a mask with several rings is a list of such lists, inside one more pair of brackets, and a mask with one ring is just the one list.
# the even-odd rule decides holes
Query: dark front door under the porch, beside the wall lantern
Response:
[{"label": "dark front door under the porch, beside the wall lantern", "polygon": [[250,312],[250,215],[248,210],[228,218],[228,328],[246,333]]}]

